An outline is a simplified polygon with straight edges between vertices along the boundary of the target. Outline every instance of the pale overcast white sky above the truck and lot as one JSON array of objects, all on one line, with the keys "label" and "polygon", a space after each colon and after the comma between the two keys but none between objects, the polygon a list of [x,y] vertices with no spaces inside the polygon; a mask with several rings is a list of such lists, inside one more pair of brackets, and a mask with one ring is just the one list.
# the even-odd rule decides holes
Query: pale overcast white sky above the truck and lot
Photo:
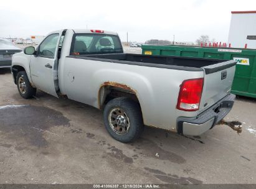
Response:
[{"label": "pale overcast white sky above the truck and lot", "polygon": [[59,29],[115,31],[121,40],[194,42],[200,35],[226,42],[231,11],[255,11],[255,0],[0,1],[0,37],[46,35]]}]

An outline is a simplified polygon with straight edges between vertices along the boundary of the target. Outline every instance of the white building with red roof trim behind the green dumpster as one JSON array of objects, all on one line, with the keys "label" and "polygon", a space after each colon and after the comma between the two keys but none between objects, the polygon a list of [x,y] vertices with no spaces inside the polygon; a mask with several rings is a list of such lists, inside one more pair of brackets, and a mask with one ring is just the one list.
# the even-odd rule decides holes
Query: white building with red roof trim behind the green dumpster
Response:
[{"label": "white building with red roof trim behind the green dumpster", "polygon": [[229,44],[235,48],[256,48],[256,11],[232,11]]}]

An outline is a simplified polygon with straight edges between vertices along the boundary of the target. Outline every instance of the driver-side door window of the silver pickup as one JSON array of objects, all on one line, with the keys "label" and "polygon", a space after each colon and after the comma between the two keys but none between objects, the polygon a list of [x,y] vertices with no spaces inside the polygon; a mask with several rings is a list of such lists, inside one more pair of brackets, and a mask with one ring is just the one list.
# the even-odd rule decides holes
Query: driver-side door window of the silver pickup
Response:
[{"label": "driver-side door window of the silver pickup", "polygon": [[38,55],[41,57],[54,58],[59,34],[52,34],[45,38],[39,46]]}]

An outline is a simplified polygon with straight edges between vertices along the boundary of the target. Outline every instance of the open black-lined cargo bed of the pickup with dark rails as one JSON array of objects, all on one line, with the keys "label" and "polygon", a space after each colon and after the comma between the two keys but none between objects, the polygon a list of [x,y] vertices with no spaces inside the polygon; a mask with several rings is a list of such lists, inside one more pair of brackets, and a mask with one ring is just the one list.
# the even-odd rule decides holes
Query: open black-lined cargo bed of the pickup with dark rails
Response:
[{"label": "open black-lined cargo bed of the pickup with dark rails", "polygon": [[[131,53],[109,53],[100,55],[70,55],[70,58],[97,60],[101,62],[125,63],[145,67],[168,68],[174,70],[202,71],[202,67],[209,72],[232,67],[235,61],[217,60],[209,58],[169,57],[159,55],[139,55]],[[231,63],[232,62],[232,63]]]}]

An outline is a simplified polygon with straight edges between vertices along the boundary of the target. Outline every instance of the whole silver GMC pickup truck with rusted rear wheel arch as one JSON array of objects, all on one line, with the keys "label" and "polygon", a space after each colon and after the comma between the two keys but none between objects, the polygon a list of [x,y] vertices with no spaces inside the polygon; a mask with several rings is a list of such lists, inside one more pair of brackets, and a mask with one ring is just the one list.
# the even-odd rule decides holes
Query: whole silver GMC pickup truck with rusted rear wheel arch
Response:
[{"label": "whole silver GMC pickup truck with rusted rear wheel arch", "polygon": [[51,32],[35,49],[12,57],[19,94],[42,90],[103,109],[109,134],[130,142],[143,127],[197,136],[234,104],[235,61],[123,53],[114,32]]}]

